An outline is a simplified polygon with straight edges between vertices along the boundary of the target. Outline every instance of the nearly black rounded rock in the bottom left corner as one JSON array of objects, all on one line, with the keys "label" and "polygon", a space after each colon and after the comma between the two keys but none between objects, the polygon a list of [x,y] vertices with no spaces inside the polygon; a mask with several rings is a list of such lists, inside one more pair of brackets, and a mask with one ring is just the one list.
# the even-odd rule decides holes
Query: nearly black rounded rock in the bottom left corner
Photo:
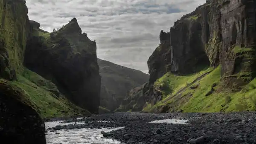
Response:
[{"label": "nearly black rounded rock in the bottom left corner", "polygon": [[46,144],[44,121],[27,97],[21,89],[0,81],[0,137],[6,144]]}]

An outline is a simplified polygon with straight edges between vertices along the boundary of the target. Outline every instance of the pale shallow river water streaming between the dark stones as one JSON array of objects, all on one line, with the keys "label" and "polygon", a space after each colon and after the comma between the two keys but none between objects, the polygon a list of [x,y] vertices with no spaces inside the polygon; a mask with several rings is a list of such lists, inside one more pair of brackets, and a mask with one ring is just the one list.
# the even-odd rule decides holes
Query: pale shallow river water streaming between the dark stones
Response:
[{"label": "pale shallow river water streaming between the dark stones", "polygon": [[[61,123],[62,121],[46,122],[45,128],[55,127],[57,125],[69,125],[69,124],[84,124],[83,122]],[[103,122],[103,121],[102,121]],[[164,119],[151,121],[151,123],[172,123],[172,124],[186,124],[187,120],[181,119]],[[120,141],[113,140],[111,138],[103,138],[101,131],[110,132],[113,130],[122,129],[124,127],[116,128],[102,128],[102,129],[75,129],[75,130],[56,130],[50,132],[48,130],[46,135],[47,144],[120,144]]]}]

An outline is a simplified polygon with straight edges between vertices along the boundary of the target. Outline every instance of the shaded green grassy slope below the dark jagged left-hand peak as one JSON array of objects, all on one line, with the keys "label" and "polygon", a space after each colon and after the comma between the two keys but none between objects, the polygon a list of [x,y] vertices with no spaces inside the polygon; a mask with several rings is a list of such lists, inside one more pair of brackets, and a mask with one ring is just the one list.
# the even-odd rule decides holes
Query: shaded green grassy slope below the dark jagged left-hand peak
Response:
[{"label": "shaded green grassy slope below the dark jagged left-hand peak", "polygon": [[56,86],[35,72],[25,69],[17,77],[18,81],[13,81],[12,84],[26,92],[42,118],[80,115],[82,112],[90,114],[90,112],[71,104],[64,96],[54,95],[50,89],[56,89]]}]

